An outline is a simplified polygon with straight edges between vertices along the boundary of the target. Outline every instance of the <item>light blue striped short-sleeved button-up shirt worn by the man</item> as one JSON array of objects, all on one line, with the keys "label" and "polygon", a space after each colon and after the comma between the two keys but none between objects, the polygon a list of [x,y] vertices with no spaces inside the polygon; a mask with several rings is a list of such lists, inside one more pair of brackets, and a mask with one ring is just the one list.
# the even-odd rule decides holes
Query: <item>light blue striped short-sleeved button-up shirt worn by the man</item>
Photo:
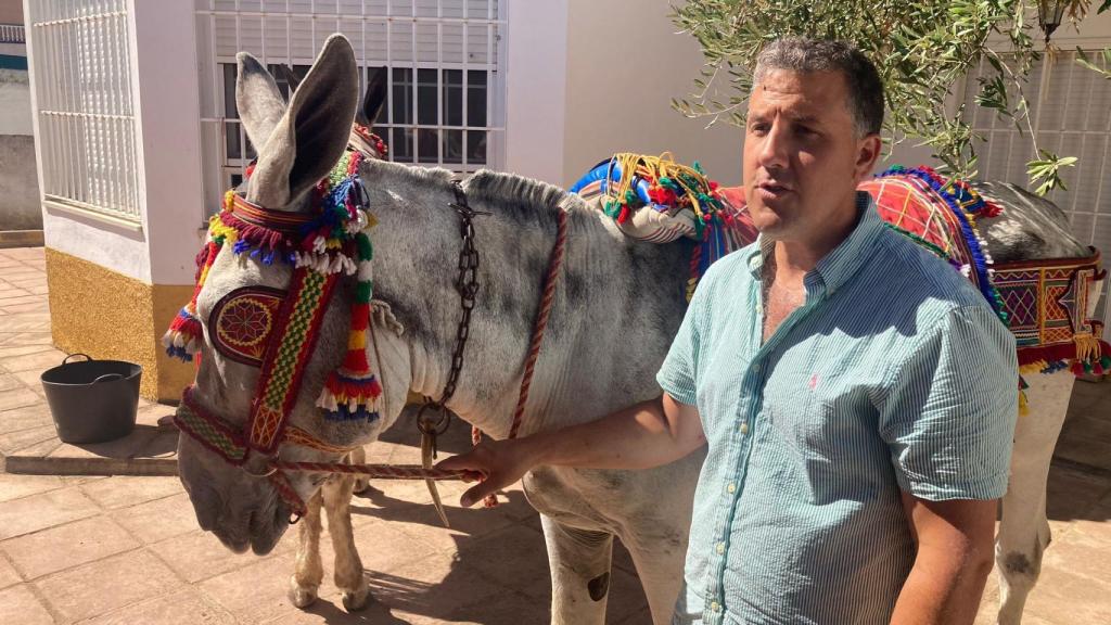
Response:
[{"label": "light blue striped short-sleeved button-up shirt worn by the man", "polygon": [[868,196],[762,339],[761,241],[707,272],[661,368],[709,442],[674,623],[887,623],[914,558],[900,490],[1007,490],[1014,339]]}]

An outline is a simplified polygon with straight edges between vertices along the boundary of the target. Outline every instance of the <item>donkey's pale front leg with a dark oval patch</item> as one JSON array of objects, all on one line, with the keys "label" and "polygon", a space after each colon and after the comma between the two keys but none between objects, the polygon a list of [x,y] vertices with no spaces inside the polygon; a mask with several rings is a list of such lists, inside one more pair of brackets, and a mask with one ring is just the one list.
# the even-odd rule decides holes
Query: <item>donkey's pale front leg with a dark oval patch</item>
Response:
[{"label": "donkey's pale front leg with a dark oval patch", "polygon": [[568,527],[540,515],[552,574],[552,625],[602,625],[613,535]]}]

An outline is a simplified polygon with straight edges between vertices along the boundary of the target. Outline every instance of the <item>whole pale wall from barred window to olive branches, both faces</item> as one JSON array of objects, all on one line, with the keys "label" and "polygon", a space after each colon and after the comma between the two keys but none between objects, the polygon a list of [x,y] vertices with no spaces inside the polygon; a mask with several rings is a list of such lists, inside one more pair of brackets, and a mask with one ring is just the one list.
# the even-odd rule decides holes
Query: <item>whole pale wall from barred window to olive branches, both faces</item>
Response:
[{"label": "whole pale wall from barred window to olive branches, both faces", "polygon": [[506,169],[567,187],[614,152],[671,150],[739,183],[740,131],[671,108],[702,54],[670,11],[664,0],[509,0]]}]

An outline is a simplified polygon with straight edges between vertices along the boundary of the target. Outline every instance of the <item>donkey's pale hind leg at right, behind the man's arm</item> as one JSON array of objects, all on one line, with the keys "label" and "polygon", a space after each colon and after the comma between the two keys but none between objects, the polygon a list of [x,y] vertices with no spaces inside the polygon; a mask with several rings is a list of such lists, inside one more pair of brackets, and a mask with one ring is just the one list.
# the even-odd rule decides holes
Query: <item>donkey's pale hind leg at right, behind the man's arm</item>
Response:
[{"label": "donkey's pale hind leg at right, behind the man's arm", "polygon": [[1011,483],[995,540],[999,566],[999,623],[1018,625],[1027,596],[1038,583],[1049,545],[1045,480],[1075,377],[1068,371],[1027,377],[1030,414],[1019,417],[1011,457]]}]

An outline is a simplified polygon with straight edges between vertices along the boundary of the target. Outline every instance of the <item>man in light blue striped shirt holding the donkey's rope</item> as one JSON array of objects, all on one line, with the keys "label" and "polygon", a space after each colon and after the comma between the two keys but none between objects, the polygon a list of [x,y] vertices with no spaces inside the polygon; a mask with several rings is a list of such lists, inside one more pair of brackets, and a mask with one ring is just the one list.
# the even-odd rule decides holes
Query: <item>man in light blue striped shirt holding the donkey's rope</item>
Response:
[{"label": "man in light blue striped shirt holding the donkey's rope", "polygon": [[843,42],[760,54],[745,127],[761,235],[714,265],[660,399],[441,463],[484,480],[538,465],[649,467],[709,444],[675,623],[972,623],[1018,413],[1014,341],[857,183],[882,86]]}]

